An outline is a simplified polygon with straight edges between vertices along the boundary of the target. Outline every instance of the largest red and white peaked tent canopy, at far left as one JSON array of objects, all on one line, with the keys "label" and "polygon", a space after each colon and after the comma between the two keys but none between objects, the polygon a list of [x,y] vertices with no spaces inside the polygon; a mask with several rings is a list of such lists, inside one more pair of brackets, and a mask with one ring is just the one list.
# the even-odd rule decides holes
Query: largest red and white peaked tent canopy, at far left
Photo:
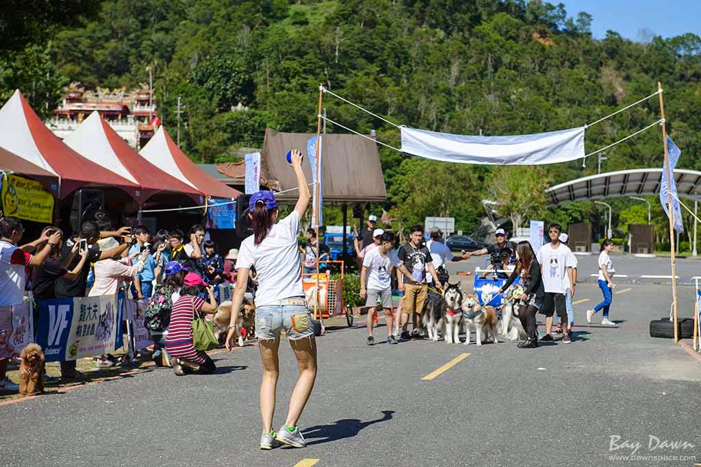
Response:
[{"label": "largest red and white peaked tent canopy, at far left", "polygon": [[51,133],[20,90],[0,109],[0,146],[57,175],[60,199],[88,187],[116,187],[138,199],[137,184],[84,158]]}]

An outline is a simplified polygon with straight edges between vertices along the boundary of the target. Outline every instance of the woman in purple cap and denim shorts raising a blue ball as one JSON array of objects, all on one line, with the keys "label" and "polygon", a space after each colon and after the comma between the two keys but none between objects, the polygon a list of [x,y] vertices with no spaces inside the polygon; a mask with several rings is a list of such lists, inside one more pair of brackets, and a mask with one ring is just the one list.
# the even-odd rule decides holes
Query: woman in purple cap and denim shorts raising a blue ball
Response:
[{"label": "woman in purple cap and denim shorts raising a blue ball", "polygon": [[[231,350],[236,335],[236,318],[243,304],[243,294],[249,271],[255,267],[258,278],[256,292],[256,337],[263,362],[260,405],[263,434],[260,448],[273,449],[280,442],[293,447],[306,447],[297,421],[306,405],[316,379],[316,341],[312,316],[302,290],[301,262],[297,250],[299,219],[309,204],[309,187],[302,172],[302,154],[291,151],[292,168],[297,177],[299,199],[292,214],[278,222],[278,203],[272,191],[258,191],[250,198],[248,216],[253,235],[246,238],[236,259],[236,287],[231,305],[229,334],[226,348]],[[278,433],[273,431],[275,386],[278,384],[278,348],[280,332],[285,330],[299,366],[299,379],[290,397],[290,409],[285,424]]]}]

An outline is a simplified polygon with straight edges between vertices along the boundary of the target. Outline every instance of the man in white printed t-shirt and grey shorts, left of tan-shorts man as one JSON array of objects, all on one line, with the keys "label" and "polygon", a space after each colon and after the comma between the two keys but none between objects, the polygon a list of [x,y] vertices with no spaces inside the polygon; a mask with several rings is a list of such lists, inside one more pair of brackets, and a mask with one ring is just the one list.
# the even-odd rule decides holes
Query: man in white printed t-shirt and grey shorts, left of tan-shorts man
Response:
[{"label": "man in white printed t-shirt and grey shorts, left of tan-shorts man", "polygon": [[[367,345],[375,343],[372,337],[373,317],[377,311],[377,302],[380,302],[385,313],[387,324],[387,344],[397,344],[397,338],[393,336],[393,303],[392,303],[392,270],[398,271],[413,280],[411,273],[402,264],[393,250],[394,235],[389,232],[380,237],[380,245],[365,253],[360,271],[360,297],[367,299],[365,306],[371,307],[367,311]],[[366,287],[367,282],[367,287]]]}]

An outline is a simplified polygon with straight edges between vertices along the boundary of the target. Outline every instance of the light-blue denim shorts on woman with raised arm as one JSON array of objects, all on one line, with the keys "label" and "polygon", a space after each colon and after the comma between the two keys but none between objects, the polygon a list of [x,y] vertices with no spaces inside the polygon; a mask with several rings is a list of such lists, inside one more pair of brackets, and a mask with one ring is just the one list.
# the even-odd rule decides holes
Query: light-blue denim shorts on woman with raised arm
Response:
[{"label": "light-blue denim shorts on woman with raised arm", "polygon": [[287,340],[296,341],[314,334],[313,317],[306,306],[273,305],[256,308],[256,337],[259,341],[277,339],[284,329]]}]

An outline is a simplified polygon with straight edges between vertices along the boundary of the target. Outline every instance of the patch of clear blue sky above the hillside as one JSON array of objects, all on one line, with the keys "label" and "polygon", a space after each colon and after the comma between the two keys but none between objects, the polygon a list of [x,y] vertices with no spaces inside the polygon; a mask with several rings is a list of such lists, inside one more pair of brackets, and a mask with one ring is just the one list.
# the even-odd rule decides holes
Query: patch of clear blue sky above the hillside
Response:
[{"label": "patch of clear blue sky above the hillside", "polygon": [[613,29],[637,40],[638,30],[648,28],[658,36],[673,37],[686,32],[701,36],[701,0],[547,0],[565,5],[567,15],[592,15],[592,33],[597,39]]}]

